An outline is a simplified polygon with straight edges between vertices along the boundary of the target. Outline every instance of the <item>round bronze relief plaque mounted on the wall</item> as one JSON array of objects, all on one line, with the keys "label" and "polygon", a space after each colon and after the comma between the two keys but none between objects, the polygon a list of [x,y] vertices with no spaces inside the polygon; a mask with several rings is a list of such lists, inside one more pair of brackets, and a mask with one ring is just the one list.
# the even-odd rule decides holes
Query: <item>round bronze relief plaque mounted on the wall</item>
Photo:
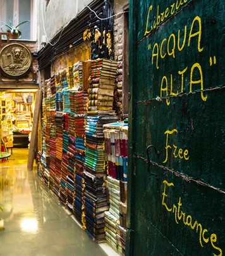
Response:
[{"label": "round bronze relief plaque mounted on the wall", "polygon": [[10,77],[20,77],[30,68],[32,56],[22,44],[8,44],[1,49],[0,67]]}]

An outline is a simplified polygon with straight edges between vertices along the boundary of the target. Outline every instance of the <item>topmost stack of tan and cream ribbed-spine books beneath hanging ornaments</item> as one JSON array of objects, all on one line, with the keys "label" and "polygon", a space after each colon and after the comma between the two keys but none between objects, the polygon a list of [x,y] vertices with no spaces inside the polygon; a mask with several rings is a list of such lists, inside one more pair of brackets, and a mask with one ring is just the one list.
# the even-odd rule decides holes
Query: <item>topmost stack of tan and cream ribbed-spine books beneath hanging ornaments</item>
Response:
[{"label": "topmost stack of tan and cream ribbed-spine books beneath hanging ornaments", "polygon": [[117,67],[117,61],[114,60],[92,60],[88,89],[88,113],[113,111]]}]

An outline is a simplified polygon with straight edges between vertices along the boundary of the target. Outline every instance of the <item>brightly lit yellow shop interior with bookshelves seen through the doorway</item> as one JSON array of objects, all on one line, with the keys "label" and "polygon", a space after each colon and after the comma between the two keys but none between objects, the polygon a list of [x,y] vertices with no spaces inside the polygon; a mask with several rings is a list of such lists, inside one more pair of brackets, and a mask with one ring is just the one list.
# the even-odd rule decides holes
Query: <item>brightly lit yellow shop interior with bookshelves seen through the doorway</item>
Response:
[{"label": "brightly lit yellow shop interior with bookshelves seen through the doorway", "polygon": [[0,92],[1,152],[29,148],[32,132],[35,89]]}]

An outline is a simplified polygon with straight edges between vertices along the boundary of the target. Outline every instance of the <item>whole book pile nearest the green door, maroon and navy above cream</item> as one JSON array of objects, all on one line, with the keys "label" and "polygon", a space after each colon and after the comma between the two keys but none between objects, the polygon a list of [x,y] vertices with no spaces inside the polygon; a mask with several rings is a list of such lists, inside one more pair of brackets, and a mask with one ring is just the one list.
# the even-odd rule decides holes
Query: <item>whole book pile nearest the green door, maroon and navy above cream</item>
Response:
[{"label": "whole book pile nearest the green door, maroon and navy above cream", "polygon": [[106,184],[110,203],[109,212],[105,213],[106,240],[114,250],[125,255],[128,124],[117,122],[103,127],[109,174]]}]

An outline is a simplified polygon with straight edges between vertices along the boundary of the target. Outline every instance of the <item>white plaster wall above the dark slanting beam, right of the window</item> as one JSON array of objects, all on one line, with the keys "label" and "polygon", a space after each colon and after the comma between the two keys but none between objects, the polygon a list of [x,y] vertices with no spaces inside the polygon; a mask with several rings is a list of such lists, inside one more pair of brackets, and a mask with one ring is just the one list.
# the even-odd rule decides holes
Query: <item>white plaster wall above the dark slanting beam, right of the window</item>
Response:
[{"label": "white plaster wall above the dark slanting beam, right of the window", "polygon": [[92,0],[50,0],[46,6],[46,0],[38,1],[39,12],[39,36],[38,46],[43,46],[42,35],[47,35],[47,41],[56,35],[72,18],[75,18],[80,11],[91,3]]}]

